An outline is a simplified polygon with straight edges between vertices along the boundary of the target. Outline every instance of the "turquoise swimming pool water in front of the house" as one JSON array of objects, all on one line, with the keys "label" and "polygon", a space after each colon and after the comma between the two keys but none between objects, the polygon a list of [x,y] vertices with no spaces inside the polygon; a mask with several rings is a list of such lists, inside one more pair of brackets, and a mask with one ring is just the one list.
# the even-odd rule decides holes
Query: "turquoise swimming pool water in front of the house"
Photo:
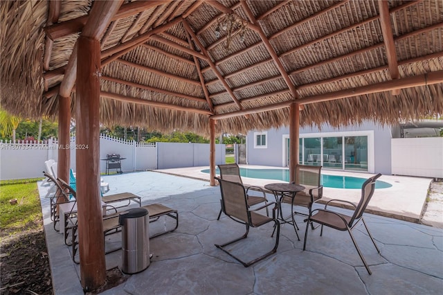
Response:
[{"label": "turquoise swimming pool water in front of the house", "polygon": [[[209,173],[209,169],[201,170],[201,172]],[[219,175],[219,169],[215,170],[215,174]],[[276,179],[282,181],[289,181],[288,169],[250,169],[240,168],[240,175],[242,177],[250,177],[257,179]],[[321,175],[321,184],[327,188],[361,188],[366,179],[352,176],[341,175]],[[390,188],[392,185],[385,181],[377,180],[375,188]]]}]

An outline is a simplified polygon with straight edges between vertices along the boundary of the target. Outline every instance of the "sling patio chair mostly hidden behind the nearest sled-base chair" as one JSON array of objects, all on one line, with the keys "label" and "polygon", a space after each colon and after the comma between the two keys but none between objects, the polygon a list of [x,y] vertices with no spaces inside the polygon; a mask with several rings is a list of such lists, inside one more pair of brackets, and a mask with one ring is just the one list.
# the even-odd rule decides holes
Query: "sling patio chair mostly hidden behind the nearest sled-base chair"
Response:
[{"label": "sling patio chair mostly hidden behind the nearest sled-base chair", "polygon": [[[218,168],[220,170],[220,178],[227,180],[227,181],[233,181],[237,182],[239,184],[243,184],[242,177],[240,176],[240,168],[237,164],[223,164],[218,165]],[[260,196],[251,195],[251,192],[249,190],[255,190],[261,193]],[[260,203],[267,204],[268,199],[266,199],[266,193],[263,188],[260,188],[260,186],[246,186],[246,196],[248,199],[248,206],[254,206]],[[221,201],[220,201],[221,202]],[[222,209],[220,209],[219,216],[217,217],[217,220],[221,217]],[[268,207],[266,206],[266,215],[269,216]]]}]

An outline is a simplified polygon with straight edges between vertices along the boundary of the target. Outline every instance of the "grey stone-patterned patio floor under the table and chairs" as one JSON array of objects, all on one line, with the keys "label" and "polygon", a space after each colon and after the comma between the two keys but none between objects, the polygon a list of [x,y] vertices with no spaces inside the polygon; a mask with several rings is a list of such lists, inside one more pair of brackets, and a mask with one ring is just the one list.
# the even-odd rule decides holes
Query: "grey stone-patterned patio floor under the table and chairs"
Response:
[{"label": "grey stone-patterned patio floor under the table and chairs", "polygon": [[[173,172],[185,175],[186,172],[183,171]],[[296,217],[301,241],[297,240],[293,227],[284,224],[277,253],[245,268],[214,246],[239,237],[244,233],[244,226],[224,216],[217,221],[220,208],[219,187],[211,187],[208,181],[201,180],[205,179],[205,176],[199,175],[199,168],[192,168],[192,171],[192,173],[188,171],[193,174],[188,177],[200,179],[159,172],[134,172],[104,177],[111,188],[107,195],[130,192],[141,196],[143,205],[161,203],[177,209],[179,228],[173,233],[150,240],[150,253],[153,254],[150,267],[139,274],[128,276],[125,283],[102,294],[292,294],[294,292],[441,294],[442,292],[443,230],[372,214],[365,214],[365,220],[381,254],[378,254],[372,245],[363,225],[354,231],[363,256],[370,265],[372,276],[368,275],[349,235],[345,232],[325,229],[323,237],[320,237],[319,229],[309,231],[307,251],[302,251],[305,224],[301,216]],[[383,177],[381,180],[390,181],[392,176],[383,175]],[[209,175],[206,179],[208,178]],[[410,202],[410,198],[413,197],[422,200],[410,206],[414,208],[405,207],[392,211],[388,204],[377,201],[377,195],[384,193],[376,190],[370,203],[372,209],[382,211],[386,206],[388,211],[386,214],[401,216],[405,212],[408,218],[415,218],[414,212],[418,210],[421,212],[424,204],[426,181],[428,186],[429,179],[414,177],[395,179],[394,182],[399,181],[395,183],[398,184],[397,187],[388,192],[390,196],[394,192],[397,192],[394,195],[399,195],[395,206],[400,205],[399,202]],[[418,182],[410,184],[412,179]],[[252,184],[247,180],[249,179],[244,179],[244,182]],[[417,186],[424,189],[424,197],[422,197],[423,192],[416,193]],[[40,195],[44,196],[47,189],[39,186]],[[325,195],[338,197],[344,194],[352,198],[352,192],[349,191],[325,190]],[[359,190],[351,191],[356,193],[357,198],[359,197]],[[271,194],[268,197],[274,199]],[[53,230],[53,224],[49,219],[49,200],[43,197],[41,199],[53,291],[55,294],[83,294],[79,279],[80,267],[72,262],[71,249],[64,245],[62,235]],[[415,208],[417,206],[419,209]],[[287,207],[283,210],[289,214]],[[166,222],[168,220],[165,219],[150,224],[150,232],[168,226]],[[270,238],[271,232],[271,224],[260,229],[251,229],[247,240],[235,244],[233,251],[245,259],[250,257],[247,251],[258,256],[271,249],[273,243],[273,239]],[[105,240],[108,248],[115,247],[121,243],[121,235],[120,233],[108,235]],[[121,251],[110,253],[106,258],[107,269],[121,265]]]}]

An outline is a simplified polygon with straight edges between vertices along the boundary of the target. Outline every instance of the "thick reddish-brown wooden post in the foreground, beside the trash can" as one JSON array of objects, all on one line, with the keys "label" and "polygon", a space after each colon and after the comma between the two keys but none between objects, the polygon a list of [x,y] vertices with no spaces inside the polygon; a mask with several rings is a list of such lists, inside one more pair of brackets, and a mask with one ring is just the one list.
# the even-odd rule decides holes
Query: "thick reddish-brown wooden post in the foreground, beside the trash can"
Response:
[{"label": "thick reddish-brown wooden post in the foreground, beside the trash can", "polygon": [[90,292],[106,279],[100,202],[100,41],[80,36],[78,52],[75,138],[80,280],[84,292]]}]

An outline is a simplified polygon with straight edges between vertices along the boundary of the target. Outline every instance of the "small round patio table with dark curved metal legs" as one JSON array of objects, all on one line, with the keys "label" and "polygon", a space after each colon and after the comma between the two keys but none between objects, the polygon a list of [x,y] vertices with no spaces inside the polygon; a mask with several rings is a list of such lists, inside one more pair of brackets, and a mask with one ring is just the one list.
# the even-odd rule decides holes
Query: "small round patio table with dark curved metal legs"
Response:
[{"label": "small round patio table with dark curved metal legs", "polygon": [[[305,186],[300,186],[300,184],[287,184],[287,183],[276,183],[276,184],[266,184],[264,186],[266,190],[271,190],[275,201],[278,204],[278,211],[280,213],[280,217],[278,217],[279,220],[281,220],[282,223],[289,223],[293,225],[293,229],[296,231],[296,235],[298,240],[300,240],[300,237],[298,236],[297,229],[298,226],[296,224],[296,220],[294,220],[294,213],[293,213],[293,200],[296,199],[296,195],[298,192],[305,190]],[[289,217],[284,218],[283,212],[282,212],[282,199],[284,197],[290,197],[291,198],[291,220],[288,220]]]}]

